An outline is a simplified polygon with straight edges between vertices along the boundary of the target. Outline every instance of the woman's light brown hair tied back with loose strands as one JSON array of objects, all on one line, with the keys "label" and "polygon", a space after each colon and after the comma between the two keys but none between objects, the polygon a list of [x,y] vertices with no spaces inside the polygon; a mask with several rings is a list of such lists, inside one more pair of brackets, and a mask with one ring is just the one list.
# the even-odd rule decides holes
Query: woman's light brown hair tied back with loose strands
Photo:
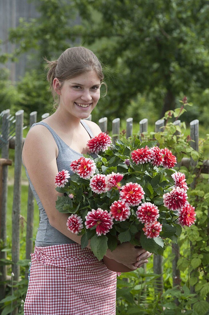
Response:
[{"label": "woman's light brown hair tied back with loose strands", "polygon": [[66,49],[57,60],[47,60],[47,58],[44,60],[47,62],[45,67],[48,70],[47,81],[50,83],[49,89],[54,99],[55,109],[58,108],[60,102],[60,97],[53,88],[55,77],[58,78],[62,86],[63,81],[93,70],[99,77],[100,83],[106,86],[105,95],[107,94],[107,84],[103,82],[104,75],[101,63],[91,50],[82,46],[71,47]]}]

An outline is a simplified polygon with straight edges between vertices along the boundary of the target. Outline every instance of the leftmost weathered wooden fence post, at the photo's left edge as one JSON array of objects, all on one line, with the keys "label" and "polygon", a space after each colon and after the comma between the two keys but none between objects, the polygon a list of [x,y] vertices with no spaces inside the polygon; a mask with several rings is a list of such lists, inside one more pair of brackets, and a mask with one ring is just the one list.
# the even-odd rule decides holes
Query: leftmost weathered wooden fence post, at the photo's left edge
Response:
[{"label": "leftmost weathered wooden fence post, at the photo's left edge", "polygon": [[[6,109],[3,113],[2,117],[2,136],[4,139],[7,138],[9,134],[9,117],[10,117],[10,110]],[[2,158],[8,159],[9,158],[9,141],[8,143],[3,143],[2,146]],[[1,179],[0,179],[1,180]],[[7,220],[7,195],[8,195],[8,165],[4,165],[2,169],[2,206],[0,211],[0,220],[1,220],[1,231],[0,231],[0,238],[3,241],[3,246],[6,245],[7,239],[7,227],[6,227],[6,220]],[[0,251],[0,259],[6,259],[7,252]],[[0,266],[0,281],[5,281],[7,278],[7,266]],[[0,285],[0,296],[2,299],[5,297],[6,293],[6,284]]]}]

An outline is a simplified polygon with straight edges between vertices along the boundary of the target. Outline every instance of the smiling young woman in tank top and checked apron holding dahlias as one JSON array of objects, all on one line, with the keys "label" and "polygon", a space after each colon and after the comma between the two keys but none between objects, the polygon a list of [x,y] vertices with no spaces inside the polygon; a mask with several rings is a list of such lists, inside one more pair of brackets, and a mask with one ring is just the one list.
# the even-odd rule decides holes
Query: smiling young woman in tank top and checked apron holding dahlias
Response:
[{"label": "smiling young woman in tank top and checked apron holding dahlias", "polygon": [[[35,250],[31,254],[25,315],[113,315],[117,273],[98,261],[91,247],[81,250],[77,234],[67,229],[68,214],[55,208],[55,176],[88,152],[87,141],[101,132],[87,118],[100,98],[102,66],[89,49],[66,49],[47,61],[50,89],[57,109],[31,126],[22,161],[40,210]],[[151,254],[122,243],[106,256],[130,269],[147,263]]]}]

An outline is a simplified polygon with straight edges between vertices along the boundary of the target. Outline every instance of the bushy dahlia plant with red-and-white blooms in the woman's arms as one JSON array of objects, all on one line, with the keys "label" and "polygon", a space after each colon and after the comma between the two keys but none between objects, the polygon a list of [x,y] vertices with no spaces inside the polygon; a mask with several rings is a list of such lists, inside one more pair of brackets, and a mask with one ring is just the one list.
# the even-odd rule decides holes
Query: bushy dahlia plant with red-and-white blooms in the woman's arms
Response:
[{"label": "bushy dahlia plant with red-and-white blooms in the woman's arms", "polygon": [[[113,145],[102,132],[88,141],[91,154],[69,163],[73,175],[63,169],[55,177],[64,194],[56,208],[69,213],[67,228],[82,235],[82,249],[91,239],[94,255],[107,265],[107,249],[123,242],[163,255],[164,239],[177,243],[182,226],[195,222],[185,175],[173,169],[176,157],[156,145],[135,137]],[[114,271],[129,271],[119,265]]]}]

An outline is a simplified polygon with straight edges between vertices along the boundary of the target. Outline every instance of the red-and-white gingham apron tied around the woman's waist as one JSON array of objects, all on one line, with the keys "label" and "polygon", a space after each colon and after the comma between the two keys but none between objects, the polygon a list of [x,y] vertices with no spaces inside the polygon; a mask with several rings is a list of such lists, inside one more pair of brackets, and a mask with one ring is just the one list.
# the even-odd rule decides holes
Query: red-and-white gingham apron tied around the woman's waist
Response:
[{"label": "red-and-white gingham apron tied around the woman's waist", "polygon": [[115,315],[116,278],[80,244],[35,246],[24,315]]}]

